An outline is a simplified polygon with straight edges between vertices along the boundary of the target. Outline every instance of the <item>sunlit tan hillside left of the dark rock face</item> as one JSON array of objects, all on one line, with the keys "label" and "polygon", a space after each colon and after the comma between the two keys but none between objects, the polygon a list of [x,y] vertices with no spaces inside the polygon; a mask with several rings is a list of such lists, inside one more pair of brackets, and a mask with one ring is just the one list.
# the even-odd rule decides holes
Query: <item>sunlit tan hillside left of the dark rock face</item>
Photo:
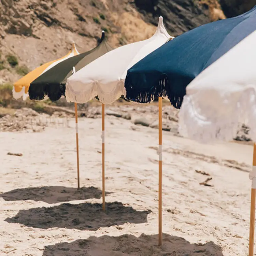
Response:
[{"label": "sunlit tan hillside left of the dark rock face", "polygon": [[0,1],[0,84],[66,55],[73,41],[79,52],[90,50],[101,30],[117,47],[147,39],[155,26],[127,0]]}]

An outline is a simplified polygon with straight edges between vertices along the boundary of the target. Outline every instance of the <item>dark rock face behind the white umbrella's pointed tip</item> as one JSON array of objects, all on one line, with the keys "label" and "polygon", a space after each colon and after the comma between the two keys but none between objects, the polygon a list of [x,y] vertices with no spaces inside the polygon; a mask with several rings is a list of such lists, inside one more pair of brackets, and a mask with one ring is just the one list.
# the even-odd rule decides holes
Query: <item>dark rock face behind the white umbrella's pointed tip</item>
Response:
[{"label": "dark rock face behind the white umbrella's pointed tip", "polygon": [[214,0],[135,0],[134,2],[146,22],[156,25],[157,18],[162,15],[166,27],[173,36],[213,20],[225,18],[218,1]]}]

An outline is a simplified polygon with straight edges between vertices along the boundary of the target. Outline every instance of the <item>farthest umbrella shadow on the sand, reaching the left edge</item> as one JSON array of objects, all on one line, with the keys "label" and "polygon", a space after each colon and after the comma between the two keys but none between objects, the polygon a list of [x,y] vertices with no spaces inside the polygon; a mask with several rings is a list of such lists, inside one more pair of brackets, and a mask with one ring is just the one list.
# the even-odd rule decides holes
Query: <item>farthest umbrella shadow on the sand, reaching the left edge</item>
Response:
[{"label": "farthest umbrella shadow on the sand, reaching the left edge", "polygon": [[[111,194],[105,192],[105,195]],[[17,188],[0,194],[5,201],[33,200],[46,203],[68,202],[72,200],[100,199],[102,191],[96,187],[82,187],[79,190],[73,187],[45,186]]]}]

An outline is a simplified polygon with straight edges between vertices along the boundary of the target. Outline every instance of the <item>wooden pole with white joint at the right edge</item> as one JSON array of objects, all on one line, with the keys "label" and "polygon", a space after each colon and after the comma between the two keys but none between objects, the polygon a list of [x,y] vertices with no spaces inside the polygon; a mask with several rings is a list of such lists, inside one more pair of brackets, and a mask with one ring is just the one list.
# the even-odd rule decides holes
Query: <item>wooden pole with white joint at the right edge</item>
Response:
[{"label": "wooden pole with white joint at the right edge", "polygon": [[251,217],[250,217],[250,240],[249,240],[249,256],[253,256],[254,251],[254,228],[255,228],[255,195],[256,195],[256,144],[253,146],[253,168],[250,173],[252,180],[251,190]]}]

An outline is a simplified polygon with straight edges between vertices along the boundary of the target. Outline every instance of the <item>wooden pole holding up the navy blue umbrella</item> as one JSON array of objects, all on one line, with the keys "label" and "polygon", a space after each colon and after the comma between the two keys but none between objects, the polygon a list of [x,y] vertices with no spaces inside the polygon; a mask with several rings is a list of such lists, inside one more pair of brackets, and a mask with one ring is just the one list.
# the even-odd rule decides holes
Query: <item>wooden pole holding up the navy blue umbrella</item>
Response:
[{"label": "wooden pole holding up the navy blue umbrella", "polygon": [[158,189],[158,244],[162,245],[162,97],[158,98],[159,107],[159,189]]}]

